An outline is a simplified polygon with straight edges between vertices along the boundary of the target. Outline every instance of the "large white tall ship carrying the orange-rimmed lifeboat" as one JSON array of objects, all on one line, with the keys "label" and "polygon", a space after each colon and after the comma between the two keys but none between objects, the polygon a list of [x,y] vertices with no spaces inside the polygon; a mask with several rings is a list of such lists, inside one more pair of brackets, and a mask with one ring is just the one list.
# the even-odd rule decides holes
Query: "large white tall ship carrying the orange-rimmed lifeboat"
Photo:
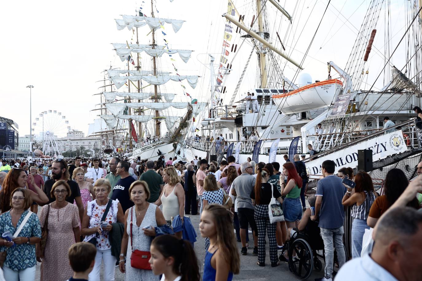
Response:
[{"label": "large white tall ship carrying the orange-rimmed lifeboat", "polygon": [[[340,66],[333,58],[325,62],[316,58],[319,80],[306,74],[306,60],[311,60],[308,51],[312,45],[325,44],[326,39],[315,43],[314,38],[327,33],[320,27],[329,4],[322,7],[314,25],[306,26],[298,24],[304,15],[298,8],[301,1],[289,5],[292,11],[274,0],[252,1],[253,8],[245,1],[234,2],[229,0],[227,11],[222,11],[223,51],[213,70],[218,73],[211,72],[215,82],[210,102],[189,130],[188,159],[198,156],[221,161],[229,153],[241,163],[255,152],[259,161],[268,162],[270,150],[276,150],[273,161],[282,164],[283,155],[289,155],[293,145],[297,153],[305,155],[308,173],[320,175],[322,161],[334,160],[338,169],[356,169],[357,151],[370,149],[377,168],[373,174],[382,174],[388,165],[407,165],[408,177],[415,174],[414,166],[421,159],[413,110],[421,105],[420,1],[396,1],[406,15],[398,18],[390,15],[398,3],[367,1],[362,22],[344,23],[356,29],[351,32],[355,38],[351,45],[335,50],[337,56],[348,57],[347,61]],[[398,28],[393,30],[392,22],[397,22]],[[305,48],[298,53],[294,35],[305,26],[310,32],[300,41]],[[285,32],[277,31],[280,29]],[[350,37],[339,34],[338,38],[345,36]],[[237,55],[242,48],[249,48],[249,58]],[[229,91],[235,63],[244,67]],[[249,64],[253,63],[257,66],[255,86],[246,88],[243,85],[251,84]],[[254,96],[247,97],[246,92]],[[393,128],[384,129],[385,117],[395,124]],[[318,158],[310,157],[308,145]]]}]

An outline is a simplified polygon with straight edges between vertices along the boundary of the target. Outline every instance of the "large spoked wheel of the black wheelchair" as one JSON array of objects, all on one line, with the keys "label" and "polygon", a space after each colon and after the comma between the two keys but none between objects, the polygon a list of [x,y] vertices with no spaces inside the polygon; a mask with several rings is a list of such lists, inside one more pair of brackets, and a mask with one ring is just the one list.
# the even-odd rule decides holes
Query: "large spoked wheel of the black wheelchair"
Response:
[{"label": "large spoked wheel of the black wheelchair", "polygon": [[307,279],[314,267],[314,255],[311,246],[302,238],[292,242],[289,247],[289,267],[299,279]]}]

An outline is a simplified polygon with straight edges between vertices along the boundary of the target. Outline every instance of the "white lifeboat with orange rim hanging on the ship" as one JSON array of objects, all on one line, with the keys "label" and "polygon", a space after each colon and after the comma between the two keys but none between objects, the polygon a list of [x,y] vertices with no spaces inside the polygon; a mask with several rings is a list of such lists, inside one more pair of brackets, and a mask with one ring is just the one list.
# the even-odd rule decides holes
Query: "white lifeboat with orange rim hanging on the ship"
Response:
[{"label": "white lifeboat with orange rim hanging on the ship", "polygon": [[336,91],[343,83],[338,79],[325,80],[300,87],[296,90],[273,95],[273,101],[284,114],[316,110],[330,106]]}]

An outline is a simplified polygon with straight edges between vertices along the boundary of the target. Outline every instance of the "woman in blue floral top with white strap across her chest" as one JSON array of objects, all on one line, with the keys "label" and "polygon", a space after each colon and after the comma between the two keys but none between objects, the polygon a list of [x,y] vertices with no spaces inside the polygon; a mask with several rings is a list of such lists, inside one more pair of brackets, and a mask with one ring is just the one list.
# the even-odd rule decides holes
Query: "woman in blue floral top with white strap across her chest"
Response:
[{"label": "woman in blue floral top with white strap across her chest", "polygon": [[[14,235],[27,216],[27,209],[32,204],[29,190],[16,188],[10,198],[12,209],[0,216],[0,233]],[[35,213],[32,213],[20,231],[18,237],[9,242],[0,241],[0,251],[7,251],[3,265],[5,280],[30,281],[35,278],[35,244],[41,240],[41,225]]]}]

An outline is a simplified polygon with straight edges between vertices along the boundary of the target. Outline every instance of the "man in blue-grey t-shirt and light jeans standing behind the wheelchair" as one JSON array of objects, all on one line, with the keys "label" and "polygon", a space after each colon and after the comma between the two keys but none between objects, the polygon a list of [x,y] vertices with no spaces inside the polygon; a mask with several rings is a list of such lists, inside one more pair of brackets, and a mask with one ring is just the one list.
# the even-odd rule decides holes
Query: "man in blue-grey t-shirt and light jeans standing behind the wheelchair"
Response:
[{"label": "man in blue-grey t-shirt and light jeans standing behind the wheelchair", "polygon": [[346,262],[344,252],[344,207],[341,201],[347,189],[339,177],[334,176],[335,163],[331,160],[322,162],[322,175],[317,184],[317,201],[315,202],[315,215],[312,220],[319,217],[319,228],[325,248],[325,276],[315,280],[332,280],[334,248],[337,250],[338,267]]}]

